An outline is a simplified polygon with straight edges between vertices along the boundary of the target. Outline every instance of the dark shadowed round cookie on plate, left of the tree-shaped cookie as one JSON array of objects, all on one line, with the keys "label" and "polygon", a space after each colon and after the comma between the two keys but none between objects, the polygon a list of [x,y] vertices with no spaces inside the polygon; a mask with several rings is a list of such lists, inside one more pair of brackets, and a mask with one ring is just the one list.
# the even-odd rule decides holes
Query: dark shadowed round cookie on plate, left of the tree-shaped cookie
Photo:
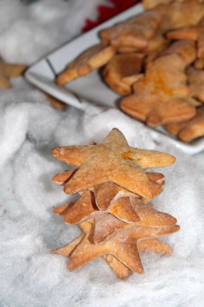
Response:
[{"label": "dark shadowed round cookie on plate, left of the tree-shaped cookie", "polygon": [[142,58],[134,53],[117,54],[102,71],[104,81],[118,94],[129,95],[131,84],[141,76],[142,62]]}]

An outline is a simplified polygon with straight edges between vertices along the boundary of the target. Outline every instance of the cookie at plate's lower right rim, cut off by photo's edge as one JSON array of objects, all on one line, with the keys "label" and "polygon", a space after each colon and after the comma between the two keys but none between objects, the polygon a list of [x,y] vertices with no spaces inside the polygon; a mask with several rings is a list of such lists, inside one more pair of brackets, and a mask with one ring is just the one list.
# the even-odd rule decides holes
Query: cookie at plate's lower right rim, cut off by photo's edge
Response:
[{"label": "cookie at plate's lower right rim, cut off by photo's edge", "polygon": [[178,122],[165,125],[164,128],[184,142],[191,142],[193,139],[204,135],[204,106],[199,107],[194,118],[187,122]]}]

